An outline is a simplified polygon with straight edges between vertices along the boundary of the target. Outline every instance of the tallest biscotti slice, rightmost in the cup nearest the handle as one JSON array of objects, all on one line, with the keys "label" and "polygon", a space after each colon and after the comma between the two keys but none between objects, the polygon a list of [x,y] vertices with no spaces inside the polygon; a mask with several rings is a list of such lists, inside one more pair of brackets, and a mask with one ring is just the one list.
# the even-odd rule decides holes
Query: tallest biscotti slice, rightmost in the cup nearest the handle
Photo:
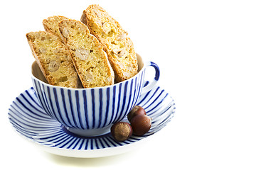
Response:
[{"label": "tallest biscotti slice, rightmost in the cup nearest the handle", "polygon": [[138,72],[137,57],[132,40],[105,9],[90,5],[81,17],[90,33],[102,43],[114,70],[115,81],[124,81]]}]

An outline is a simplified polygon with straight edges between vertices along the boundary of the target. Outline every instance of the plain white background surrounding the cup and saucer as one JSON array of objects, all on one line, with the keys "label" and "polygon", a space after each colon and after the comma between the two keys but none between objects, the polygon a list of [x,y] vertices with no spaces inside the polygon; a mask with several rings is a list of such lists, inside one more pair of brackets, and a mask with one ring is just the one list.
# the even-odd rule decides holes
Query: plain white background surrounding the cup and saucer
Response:
[{"label": "plain white background surrounding the cup and saucer", "polygon": [[[25,35],[43,30],[48,16],[80,20],[90,4],[105,8],[136,52],[159,65],[158,85],[174,98],[176,114],[126,154],[55,156],[24,140],[8,119],[11,102],[32,86]],[[256,169],[254,1],[2,1],[0,17],[1,169]]]}]

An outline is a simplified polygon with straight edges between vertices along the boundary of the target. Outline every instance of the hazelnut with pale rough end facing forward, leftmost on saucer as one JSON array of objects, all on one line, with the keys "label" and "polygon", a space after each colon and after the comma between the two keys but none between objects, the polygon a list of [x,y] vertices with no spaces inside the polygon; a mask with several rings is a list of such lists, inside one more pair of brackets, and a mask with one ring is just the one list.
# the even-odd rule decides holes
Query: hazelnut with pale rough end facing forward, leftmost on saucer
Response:
[{"label": "hazelnut with pale rough end facing forward, leftmost on saucer", "polygon": [[114,139],[119,142],[129,139],[129,137],[132,135],[131,125],[125,122],[114,123],[110,131]]}]

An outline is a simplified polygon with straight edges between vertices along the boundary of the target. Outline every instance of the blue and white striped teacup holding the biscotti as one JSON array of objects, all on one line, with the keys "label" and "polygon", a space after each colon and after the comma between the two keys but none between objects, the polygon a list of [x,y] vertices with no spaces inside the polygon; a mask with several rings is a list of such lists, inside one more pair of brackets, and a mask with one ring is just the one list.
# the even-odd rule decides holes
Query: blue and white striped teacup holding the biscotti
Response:
[{"label": "blue and white striped teacup holding the biscotti", "polygon": [[[102,135],[113,123],[122,120],[136,105],[142,93],[150,91],[159,80],[159,67],[143,63],[137,55],[139,72],[134,77],[114,84],[89,89],[71,89],[46,83],[36,62],[32,64],[32,81],[38,101],[53,119],[77,135]],[[154,80],[143,87],[146,67],[154,67]]]}]

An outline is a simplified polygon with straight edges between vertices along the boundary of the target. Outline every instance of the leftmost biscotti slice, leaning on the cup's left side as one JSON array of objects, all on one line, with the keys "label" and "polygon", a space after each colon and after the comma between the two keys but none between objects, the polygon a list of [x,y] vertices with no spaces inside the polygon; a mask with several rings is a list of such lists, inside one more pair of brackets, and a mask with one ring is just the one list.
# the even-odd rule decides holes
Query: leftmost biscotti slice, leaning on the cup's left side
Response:
[{"label": "leftmost biscotti slice, leaning on the cup's left side", "polygon": [[49,84],[79,88],[80,79],[70,52],[60,39],[46,31],[26,34],[33,56]]}]

